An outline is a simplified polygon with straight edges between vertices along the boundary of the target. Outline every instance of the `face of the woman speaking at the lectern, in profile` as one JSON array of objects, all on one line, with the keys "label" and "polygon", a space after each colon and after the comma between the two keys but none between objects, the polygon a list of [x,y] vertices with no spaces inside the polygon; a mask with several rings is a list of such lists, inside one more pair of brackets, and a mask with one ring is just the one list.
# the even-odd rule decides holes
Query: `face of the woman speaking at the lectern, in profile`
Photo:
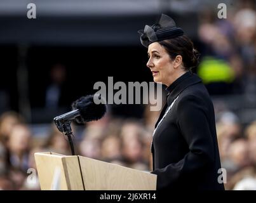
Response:
[{"label": "face of the woman speaking at the lectern, in profile", "polygon": [[162,82],[169,86],[172,83],[172,75],[175,71],[173,68],[174,60],[170,58],[165,48],[157,42],[149,44],[147,53],[149,56],[147,67],[152,72],[154,82]]}]

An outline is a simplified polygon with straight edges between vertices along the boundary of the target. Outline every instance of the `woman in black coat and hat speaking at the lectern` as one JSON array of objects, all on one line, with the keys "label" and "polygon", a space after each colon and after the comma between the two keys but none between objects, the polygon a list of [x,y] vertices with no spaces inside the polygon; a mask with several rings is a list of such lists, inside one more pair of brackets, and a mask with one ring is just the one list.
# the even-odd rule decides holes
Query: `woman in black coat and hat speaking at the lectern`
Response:
[{"label": "woman in black coat and hat speaking at the lectern", "polygon": [[165,84],[168,93],[152,138],[157,190],[224,190],[213,104],[191,72],[198,51],[166,15],[138,32],[154,82]]}]

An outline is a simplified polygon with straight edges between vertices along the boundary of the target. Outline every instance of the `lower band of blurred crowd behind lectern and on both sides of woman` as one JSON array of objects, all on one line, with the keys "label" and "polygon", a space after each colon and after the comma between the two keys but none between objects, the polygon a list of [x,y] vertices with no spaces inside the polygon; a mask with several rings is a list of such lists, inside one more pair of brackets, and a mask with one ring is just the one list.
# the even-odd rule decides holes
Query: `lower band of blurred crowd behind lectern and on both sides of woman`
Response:
[{"label": "lower band of blurred crowd behind lectern and on both sides of woman", "polygon": [[[74,124],[76,154],[142,171],[152,170],[152,131],[159,112],[145,108],[142,120],[112,117],[86,126]],[[217,114],[222,176],[226,190],[256,190],[256,120],[242,126],[232,112]],[[82,128],[76,139],[76,129]],[[39,181],[29,182],[29,169],[36,169],[35,152],[71,155],[69,143],[54,124],[45,139],[32,134],[32,129],[16,112],[0,117],[0,188],[1,190],[39,190]],[[220,171],[219,171],[220,173]],[[220,173],[221,174],[221,173]]]}]

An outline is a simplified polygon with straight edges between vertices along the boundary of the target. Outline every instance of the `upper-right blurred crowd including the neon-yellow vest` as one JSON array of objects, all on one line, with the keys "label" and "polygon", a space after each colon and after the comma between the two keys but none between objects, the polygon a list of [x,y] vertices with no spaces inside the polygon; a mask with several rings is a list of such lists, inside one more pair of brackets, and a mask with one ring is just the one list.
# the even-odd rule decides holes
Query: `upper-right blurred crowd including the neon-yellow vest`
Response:
[{"label": "upper-right blurred crowd including the neon-yellow vest", "polygon": [[[205,9],[198,14],[201,63],[197,69],[210,95],[244,94],[256,101],[255,1],[227,4],[227,18]],[[255,102],[256,103],[256,102]]]}]

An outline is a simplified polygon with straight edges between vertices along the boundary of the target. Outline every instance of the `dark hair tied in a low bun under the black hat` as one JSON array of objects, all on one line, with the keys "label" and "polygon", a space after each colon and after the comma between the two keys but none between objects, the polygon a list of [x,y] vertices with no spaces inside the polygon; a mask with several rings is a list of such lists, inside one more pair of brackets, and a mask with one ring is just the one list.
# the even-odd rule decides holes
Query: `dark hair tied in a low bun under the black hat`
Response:
[{"label": "dark hair tied in a low bun under the black hat", "polygon": [[179,36],[172,39],[159,41],[170,58],[175,59],[177,55],[182,56],[182,62],[185,70],[190,70],[196,67],[199,63],[199,52],[194,48],[194,44],[187,36]]}]

